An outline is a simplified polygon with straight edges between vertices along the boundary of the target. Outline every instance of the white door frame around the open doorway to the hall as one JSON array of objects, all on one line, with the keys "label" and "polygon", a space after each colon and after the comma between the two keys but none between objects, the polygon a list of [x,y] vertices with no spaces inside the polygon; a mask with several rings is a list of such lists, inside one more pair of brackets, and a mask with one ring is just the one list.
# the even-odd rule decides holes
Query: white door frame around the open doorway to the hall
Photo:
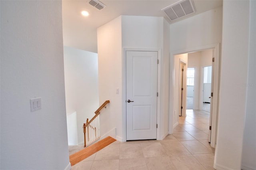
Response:
[{"label": "white door frame around the open doorway to the hall", "polygon": [[[195,47],[192,49],[183,49],[180,51],[171,51],[170,54],[170,79],[172,79],[172,83],[174,83],[174,55],[190,53],[194,51],[203,51],[206,49],[214,49],[214,82],[213,82],[213,102],[212,102],[212,134],[211,134],[211,147],[215,148],[216,143],[216,125],[217,125],[217,109],[218,109],[218,90],[219,90],[219,59],[220,59],[220,43],[205,45],[201,47]],[[170,109],[169,110],[169,133],[173,132],[173,92],[174,92],[174,84],[172,87],[170,86]]]}]

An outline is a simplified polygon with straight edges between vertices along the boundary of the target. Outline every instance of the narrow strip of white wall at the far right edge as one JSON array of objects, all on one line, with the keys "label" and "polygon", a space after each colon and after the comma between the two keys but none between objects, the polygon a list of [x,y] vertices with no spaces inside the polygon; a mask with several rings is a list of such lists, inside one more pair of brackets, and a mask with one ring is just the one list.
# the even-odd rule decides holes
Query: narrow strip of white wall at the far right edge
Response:
[{"label": "narrow strip of white wall at the far right edge", "polygon": [[256,169],[256,1],[250,6],[250,51],[244,126],[242,169]]}]

